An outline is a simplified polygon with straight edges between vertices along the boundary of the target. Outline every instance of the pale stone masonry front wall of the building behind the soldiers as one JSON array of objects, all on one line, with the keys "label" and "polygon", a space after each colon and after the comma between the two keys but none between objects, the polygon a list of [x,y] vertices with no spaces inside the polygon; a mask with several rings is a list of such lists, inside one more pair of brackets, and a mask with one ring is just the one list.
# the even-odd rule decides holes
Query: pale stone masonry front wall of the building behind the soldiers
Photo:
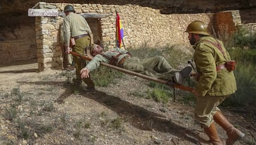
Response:
[{"label": "pale stone masonry front wall of the building behind the soldiers", "polygon": [[[64,10],[67,4],[40,2],[41,9]],[[147,44],[159,47],[166,44],[189,45],[187,34],[184,33],[187,25],[194,20],[210,22],[213,14],[173,14],[163,15],[160,10],[141,7],[132,4],[124,6],[100,4],[72,4],[77,13],[94,12],[113,15],[101,18],[102,41],[108,47],[116,45],[116,14],[121,17],[124,28],[124,44],[126,47]],[[36,17],[36,45],[38,69],[61,67],[62,57],[59,43],[59,25],[62,17]]]}]

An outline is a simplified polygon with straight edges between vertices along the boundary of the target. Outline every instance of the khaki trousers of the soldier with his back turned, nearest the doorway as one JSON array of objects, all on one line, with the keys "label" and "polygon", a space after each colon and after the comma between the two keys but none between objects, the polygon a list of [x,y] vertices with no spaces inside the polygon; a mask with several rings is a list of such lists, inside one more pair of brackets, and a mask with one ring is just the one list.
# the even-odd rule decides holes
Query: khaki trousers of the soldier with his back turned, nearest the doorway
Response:
[{"label": "khaki trousers of the soldier with his back turned, nearest the doorway", "polygon": [[[90,45],[90,37],[86,36],[86,37],[81,37],[77,40],[75,40],[75,45],[72,48],[72,51],[75,53],[79,53],[80,55],[85,55],[84,54],[84,49],[86,47],[88,47]],[[82,68],[84,68],[86,66],[86,60],[77,57],[77,56],[73,56],[73,59],[75,61],[75,74],[77,74],[77,79],[81,78],[81,74],[80,71]],[[84,78],[83,82],[85,82],[85,84],[87,84],[87,87],[94,87],[94,82],[92,81],[91,77],[88,78]]]}]

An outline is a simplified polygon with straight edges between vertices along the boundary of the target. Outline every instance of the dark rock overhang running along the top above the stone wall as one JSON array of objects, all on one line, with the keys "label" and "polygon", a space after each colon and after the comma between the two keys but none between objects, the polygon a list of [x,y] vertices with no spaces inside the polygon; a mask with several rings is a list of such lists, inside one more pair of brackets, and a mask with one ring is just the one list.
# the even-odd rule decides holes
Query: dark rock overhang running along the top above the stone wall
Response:
[{"label": "dark rock overhang running along the top above the stone wall", "polygon": [[[40,0],[1,0],[0,1],[0,15],[20,15],[27,12],[27,9],[35,6]],[[45,0],[44,2],[56,3],[70,3],[70,4],[84,4],[82,0]],[[126,5],[135,4],[142,7],[151,7],[153,9],[160,9],[161,14],[188,14],[188,13],[203,13],[203,12],[220,12],[224,10],[242,10],[252,9],[256,7],[255,0],[92,0],[87,4],[113,4]]]}]

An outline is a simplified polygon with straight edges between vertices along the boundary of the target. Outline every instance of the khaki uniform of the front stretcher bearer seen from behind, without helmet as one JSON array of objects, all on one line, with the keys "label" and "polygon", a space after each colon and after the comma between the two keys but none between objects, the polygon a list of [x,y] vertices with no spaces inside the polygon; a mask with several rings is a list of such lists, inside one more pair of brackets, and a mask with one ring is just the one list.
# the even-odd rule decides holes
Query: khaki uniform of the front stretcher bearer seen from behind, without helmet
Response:
[{"label": "khaki uniform of the front stretcher bearer seen from behind, without helmet", "polygon": [[[65,45],[69,46],[70,38],[75,36],[81,36],[83,34],[92,33],[88,23],[86,22],[85,18],[83,18],[79,14],[75,14],[70,12],[69,15],[64,17],[63,21],[63,28],[64,28],[64,41]],[[90,37],[80,37],[75,39],[75,45],[72,47],[72,51],[75,53],[79,53],[80,55],[84,54],[84,49],[90,45]],[[80,70],[86,65],[86,61],[80,57],[74,56],[75,61],[75,72],[77,75],[77,79],[80,77]],[[88,88],[94,87],[93,81],[88,78],[84,78],[83,81],[87,84]]]}]

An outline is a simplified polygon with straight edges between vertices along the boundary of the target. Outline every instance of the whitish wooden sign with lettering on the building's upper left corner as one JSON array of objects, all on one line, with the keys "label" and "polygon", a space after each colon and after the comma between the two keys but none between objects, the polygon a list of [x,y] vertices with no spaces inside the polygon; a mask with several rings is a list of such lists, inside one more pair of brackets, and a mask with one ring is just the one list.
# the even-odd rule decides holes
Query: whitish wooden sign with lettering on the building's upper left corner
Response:
[{"label": "whitish wooden sign with lettering on the building's upper left corner", "polygon": [[57,17],[58,14],[57,9],[28,9],[30,17]]}]

